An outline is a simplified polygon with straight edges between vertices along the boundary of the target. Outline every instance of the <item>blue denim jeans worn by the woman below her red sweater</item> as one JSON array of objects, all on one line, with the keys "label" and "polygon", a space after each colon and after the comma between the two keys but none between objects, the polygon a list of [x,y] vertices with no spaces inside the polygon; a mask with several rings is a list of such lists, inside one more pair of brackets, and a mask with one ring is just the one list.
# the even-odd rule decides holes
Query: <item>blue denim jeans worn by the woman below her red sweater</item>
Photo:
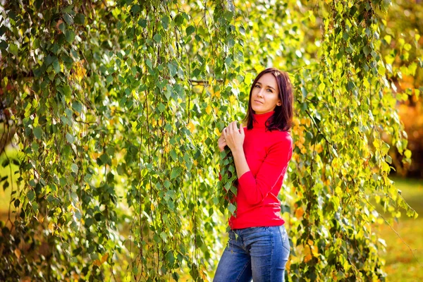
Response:
[{"label": "blue denim jeans worn by the woman below her red sweater", "polygon": [[283,282],[290,246],[285,226],[229,231],[214,282]]}]

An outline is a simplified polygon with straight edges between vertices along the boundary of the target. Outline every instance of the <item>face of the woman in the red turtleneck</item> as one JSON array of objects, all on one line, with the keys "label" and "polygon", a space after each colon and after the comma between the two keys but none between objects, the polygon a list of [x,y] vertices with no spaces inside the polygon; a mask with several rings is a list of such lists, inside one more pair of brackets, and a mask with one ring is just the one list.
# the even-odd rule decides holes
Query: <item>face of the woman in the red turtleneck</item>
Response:
[{"label": "face of the woman in the red turtleneck", "polygon": [[271,73],[265,73],[252,87],[252,110],[255,114],[266,114],[274,111],[276,105],[281,106],[281,104],[276,78]]}]

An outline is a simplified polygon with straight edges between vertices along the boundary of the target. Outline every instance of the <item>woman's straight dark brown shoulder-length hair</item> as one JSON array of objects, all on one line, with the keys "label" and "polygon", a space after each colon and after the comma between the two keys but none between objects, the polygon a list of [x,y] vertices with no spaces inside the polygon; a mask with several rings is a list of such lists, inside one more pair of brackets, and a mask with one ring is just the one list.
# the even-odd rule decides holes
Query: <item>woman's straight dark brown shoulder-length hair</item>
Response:
[{"label": "woman's straight dark brown shoulder-length hair", "polygon": [[266,73],[271,73],[276,79],[279,90],[279,99],[281,99],[281,106],[276,105],[274,114],[266,121],[266,130],[290,130],[293,123],[293,87],[290,82],[288,73],[279,71],[277,68],[266,68],[259,73],[252,82],[250,89],[250,97],[248,99],[248,111],[244,121],[247,122],[247,129],[252,128],[255,112],[251,107],[251,94],[256,82]]}]

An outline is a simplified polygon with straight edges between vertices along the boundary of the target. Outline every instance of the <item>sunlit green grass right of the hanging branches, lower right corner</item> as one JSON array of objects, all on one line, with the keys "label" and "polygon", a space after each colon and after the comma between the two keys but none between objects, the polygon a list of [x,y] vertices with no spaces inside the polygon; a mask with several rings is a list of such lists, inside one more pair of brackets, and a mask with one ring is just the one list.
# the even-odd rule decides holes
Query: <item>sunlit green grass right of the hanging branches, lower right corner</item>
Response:
[{"label": "sunlit green grass right of the hanging branches, lower right corner", "polygon": [[387,281],[420,281],[423,280],[423,180],[392,180],[419,217],[410,219],[403,212],[392,228],[386,224],[379,226],[377,233],[386,240],[386,252],[379,255],[386,260]]}]

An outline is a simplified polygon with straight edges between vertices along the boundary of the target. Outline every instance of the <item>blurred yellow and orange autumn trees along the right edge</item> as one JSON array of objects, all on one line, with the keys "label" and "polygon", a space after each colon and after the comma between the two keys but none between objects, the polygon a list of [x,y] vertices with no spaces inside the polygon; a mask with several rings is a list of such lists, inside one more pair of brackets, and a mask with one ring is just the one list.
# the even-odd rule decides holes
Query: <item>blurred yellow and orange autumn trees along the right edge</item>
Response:
[{"label": "blurred yellow and orange autumn trees along the right edge", "polygon": [[412,1],[395,1],[388,10],[381,30],[381,55],[387,63],[386,79],[398,96],[400,120],[407,133],[411,164],[403,163],[400,154],[391,149],[393,164],[400,175],[423,177],[423,16],[422,5]]}]

